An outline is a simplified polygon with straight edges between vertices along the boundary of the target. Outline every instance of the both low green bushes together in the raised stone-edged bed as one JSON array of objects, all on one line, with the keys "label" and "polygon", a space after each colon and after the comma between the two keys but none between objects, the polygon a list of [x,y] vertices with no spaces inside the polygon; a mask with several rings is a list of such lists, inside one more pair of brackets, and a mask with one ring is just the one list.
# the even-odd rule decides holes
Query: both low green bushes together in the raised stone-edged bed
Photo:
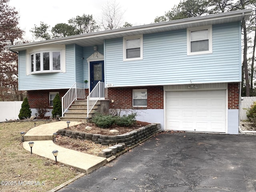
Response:
[{"label": "both low green bushes together in the raised stone-edged bed", "polygon": [[132,113],[128,116],[112,116],[112,115],[103,115],[96,114],[92,118],[94,122],[100,128],[110,128],[112,125],[116,124],[118,126],[128,127],[132,126],[136,122],[136,113]]}]

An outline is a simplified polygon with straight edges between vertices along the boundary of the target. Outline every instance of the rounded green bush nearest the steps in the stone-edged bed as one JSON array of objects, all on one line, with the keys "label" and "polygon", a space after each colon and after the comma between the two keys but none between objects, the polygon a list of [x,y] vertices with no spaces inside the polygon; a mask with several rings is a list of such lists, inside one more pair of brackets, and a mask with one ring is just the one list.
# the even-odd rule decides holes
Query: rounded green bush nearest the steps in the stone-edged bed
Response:
[{"label": "rounded green bush nearest the steps in the stone-edged bed", "polygon": [[110,128],[114,124],[114,117],[112,115],[97,114],[92,118],[94,122],[100,128]]}]

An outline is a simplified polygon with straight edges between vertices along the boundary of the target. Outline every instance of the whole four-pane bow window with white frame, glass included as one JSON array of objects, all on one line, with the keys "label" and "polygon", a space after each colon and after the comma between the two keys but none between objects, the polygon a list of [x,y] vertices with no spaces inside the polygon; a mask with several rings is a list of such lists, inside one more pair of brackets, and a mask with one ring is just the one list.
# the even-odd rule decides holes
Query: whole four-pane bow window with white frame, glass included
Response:
[{"label": "whole four-pane bow window with white frame, glass included", "polygon": [[60,51],[40,51],[30,54],[30,73],[59,72]]}]

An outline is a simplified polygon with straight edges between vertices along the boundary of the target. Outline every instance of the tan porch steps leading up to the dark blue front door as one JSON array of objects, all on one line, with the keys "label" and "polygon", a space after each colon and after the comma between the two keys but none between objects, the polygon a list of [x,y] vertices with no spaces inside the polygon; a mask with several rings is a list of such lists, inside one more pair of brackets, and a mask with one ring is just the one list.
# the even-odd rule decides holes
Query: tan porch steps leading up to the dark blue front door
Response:
[{"label": "tan porch steps leading up to the dark blue front door", "polygon": [[76,100],[71,104],[68,111],[65,112],[64,117],[61,117],[60,120],[87,122],[95,114],[99,105],[100,104],[96,104],[87,117],[87,100]]}]

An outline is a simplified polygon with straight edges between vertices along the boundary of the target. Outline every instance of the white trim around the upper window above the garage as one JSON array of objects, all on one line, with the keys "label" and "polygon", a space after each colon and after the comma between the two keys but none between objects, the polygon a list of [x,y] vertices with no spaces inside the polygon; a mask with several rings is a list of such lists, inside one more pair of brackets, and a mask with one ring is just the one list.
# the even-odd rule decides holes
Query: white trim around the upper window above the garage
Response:
[{"label": "white trim around the upper window above the garage", "polygon": [[[199,52],[191,52],[191,32],[206,30],[208,29],[208,40],[209,40],[209,50],[208,51],[199,51]],[[212,25],[200,26],[200,27],[192,27],[187,28],[187,55],[200,55],[200,54],[211,54],[212,53]]]}]

